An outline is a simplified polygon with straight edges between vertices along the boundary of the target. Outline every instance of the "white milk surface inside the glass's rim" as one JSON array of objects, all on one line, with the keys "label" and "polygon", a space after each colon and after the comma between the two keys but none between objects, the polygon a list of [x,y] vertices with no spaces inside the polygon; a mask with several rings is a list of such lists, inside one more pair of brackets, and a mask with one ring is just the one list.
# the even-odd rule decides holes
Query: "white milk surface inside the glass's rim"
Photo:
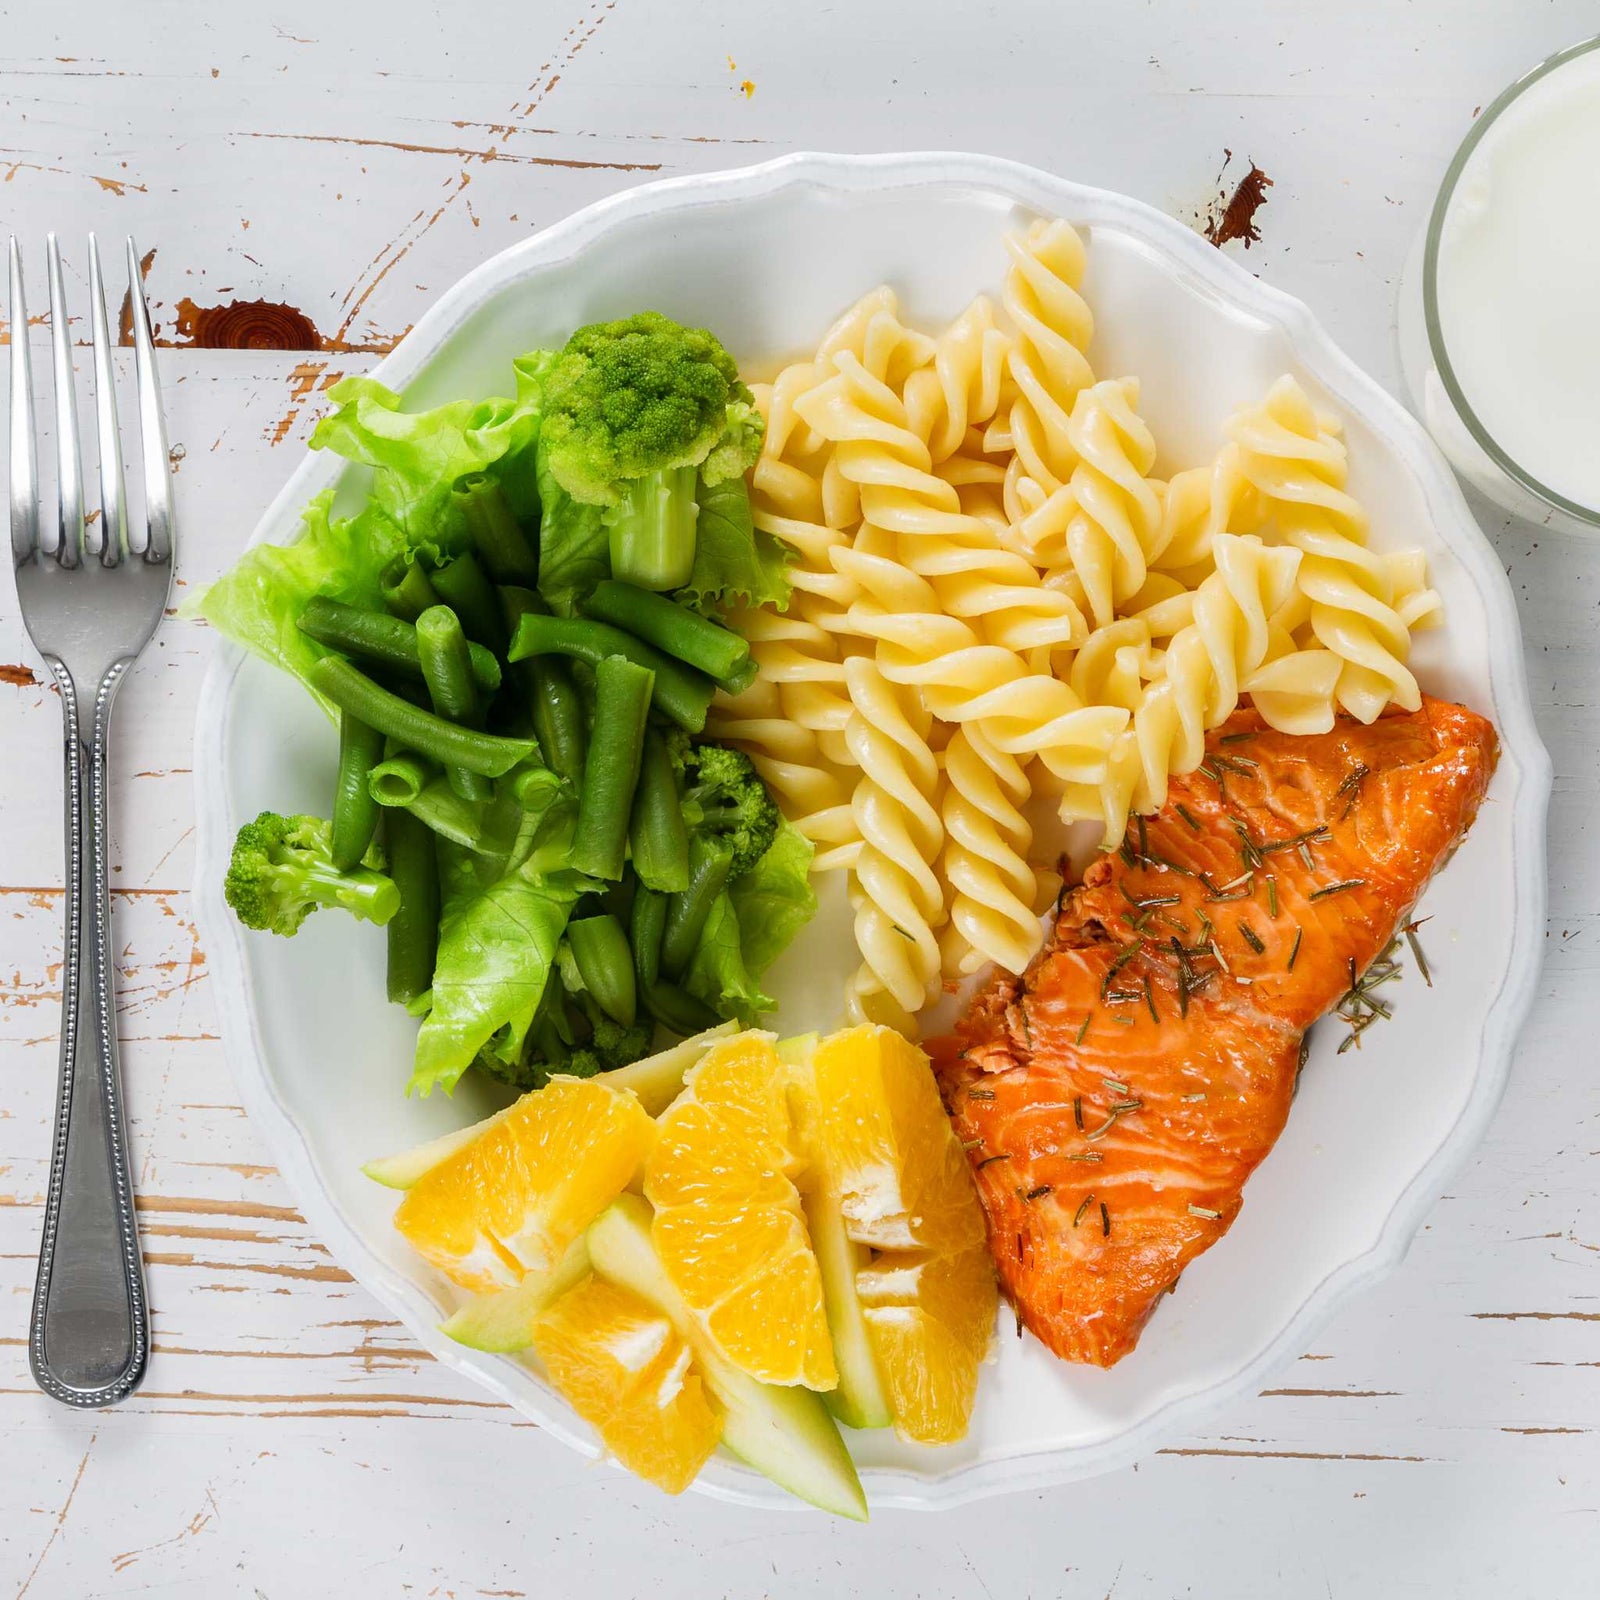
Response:
[{"label": "white milk surface inside the glass's rim", "polygon": [[1506,107],[1440,234],[1445,354],[1523,472],[1600,510],[1600,50]]}]

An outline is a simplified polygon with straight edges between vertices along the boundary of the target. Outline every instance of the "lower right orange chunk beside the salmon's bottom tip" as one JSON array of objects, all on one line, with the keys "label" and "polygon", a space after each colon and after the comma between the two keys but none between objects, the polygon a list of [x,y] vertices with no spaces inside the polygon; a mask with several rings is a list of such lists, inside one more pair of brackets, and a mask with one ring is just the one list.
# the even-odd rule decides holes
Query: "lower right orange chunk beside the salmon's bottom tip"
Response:
[{"label": "lower right orange chunk beside the salmon's bottom tip", "polygon": [[856,1293],[896,1430],[920,1445],[965,1437],[995,1322],[989,1251],[883,1254],[856,1274]]}]

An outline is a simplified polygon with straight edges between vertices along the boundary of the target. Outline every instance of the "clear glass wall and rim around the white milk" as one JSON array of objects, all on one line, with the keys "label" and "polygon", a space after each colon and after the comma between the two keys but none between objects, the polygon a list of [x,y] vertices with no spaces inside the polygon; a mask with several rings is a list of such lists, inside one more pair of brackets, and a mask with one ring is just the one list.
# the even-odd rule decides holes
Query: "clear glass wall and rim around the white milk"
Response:
[{"label": "clear glass wall and rim around the white milk", "polygon": [[[1474,155],[1501,117],[1523,94],[1544,83],[1554,72],[1600,48],[1600,35],[1571,45],[1542,61],[1510,85],[1474,122],[1461,141],[1440,184],[1427,227],[1418,237],[1400,278],[1400,363],[1405,371],[1411,406],[1421,416],[1435,443],[1451,466],[1494,504],[1518,517],[1574,533],[1600,531],[1600,507],[1570,499],[1541,483],[1526,466],[1485,426],[1462,390],[1456,366],[1451,365],[1446,330],[1440,317],[1438,261],[1440,240],[1451,218],[1451,208],[1462,202],[1461,184],[1474,166]],[[1574,205],[1586,197],[1574,195]],[[1600,272],[1595,293],[1600,294]],[[1493,307],[1485,307],[1493,315]],[[1595,374],[1600,382],[1600,373]],[[1600,440],[1595,442],[1600,450]]]}]

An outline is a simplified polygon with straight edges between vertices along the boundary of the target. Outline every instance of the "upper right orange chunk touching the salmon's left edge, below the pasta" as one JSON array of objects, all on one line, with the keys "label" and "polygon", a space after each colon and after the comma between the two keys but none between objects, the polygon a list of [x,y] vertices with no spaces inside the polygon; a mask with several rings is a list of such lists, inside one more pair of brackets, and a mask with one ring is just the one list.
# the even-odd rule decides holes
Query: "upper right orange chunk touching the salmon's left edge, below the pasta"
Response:
[{"label": "upper right orange chunk touching the salmon's left edge, below the pasta", "polygon": [[890,1027],[851,1027],[816,1046],[811,1074],[850,1237],[875,1250],[981,1245],[982,1208],[928,1058]]}]

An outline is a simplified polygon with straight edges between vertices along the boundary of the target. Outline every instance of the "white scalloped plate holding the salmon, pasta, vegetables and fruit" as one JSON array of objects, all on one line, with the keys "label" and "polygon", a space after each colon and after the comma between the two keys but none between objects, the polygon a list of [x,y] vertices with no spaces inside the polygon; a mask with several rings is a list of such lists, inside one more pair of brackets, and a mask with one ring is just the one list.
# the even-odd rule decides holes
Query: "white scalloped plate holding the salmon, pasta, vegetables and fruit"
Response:
[{"label": "white scalloped plate holding the salmon, pasta, vegetables and fruit", "polygon": [[[411,405],[504,392],[512,355],[654,306],[715,328],[746,371],[765,373],[810,350],[880,280],[930,328],[974,293],[997,293],[1002,234],[1035,214],[1088,232],[1094,368],[1139,376],[1162,470],[1208,459],[1224,416],[1283,371],[1342,413],[1350,488],[1371,510],[1374,542],[1426,546],[1448,608],[1448,626],[1418,643],[1419,675],[1490,715],[1502,757],[1477,826],[1427,893],[1434,987],[1408,976],[1394,1021],[1358,1053],[1336,1058],[1333,1029],[1320,1030],[1288,1130],[1238,1222],[1184,1274],[1139,1349],[1109,1373],[1066,1366],[1010,1338],[1002,1314],[1006,1336],[965,1443],[934,1451],[890,1434],[851,1438],[875,1506],[947,1506],[1128,1462],[1259,1387],[1341,1299],[1400,1261],[1499,1101],[1538,976],[1550,770],[1506,574],[1422,430],[1304,306],[1149,206],[987,157],[794,155],[634,189],[469,274],[378,368]],[[291,539],[299,507],[336,482],[354,493],[360,472],[307,456],[256,539]],[[470,1088],[454,1102],[405,1099],[413,1024],[384,1003],[382,934],[338,917],[312,918],[296,939],[248,934],[222,902],[243,818],[326,808],[326,723],[294,683],[224,648],[202,696],[195,755],[195,896],[224,1038],[307,1218],[440,1360],[594,1454],[594,1435],[523,1365],[437,1331],[450,1291],[394,1234],[394,1194],[360,1174],[370,1157],[483,1110]],[[811,981],[802,994],[774,974],[789,998],[778,1026],[837,1022],[846,955],[848,941],[822,926],[802,936],[784,965]],[[701,1486],[790,1504],[723,1458]]]}]

